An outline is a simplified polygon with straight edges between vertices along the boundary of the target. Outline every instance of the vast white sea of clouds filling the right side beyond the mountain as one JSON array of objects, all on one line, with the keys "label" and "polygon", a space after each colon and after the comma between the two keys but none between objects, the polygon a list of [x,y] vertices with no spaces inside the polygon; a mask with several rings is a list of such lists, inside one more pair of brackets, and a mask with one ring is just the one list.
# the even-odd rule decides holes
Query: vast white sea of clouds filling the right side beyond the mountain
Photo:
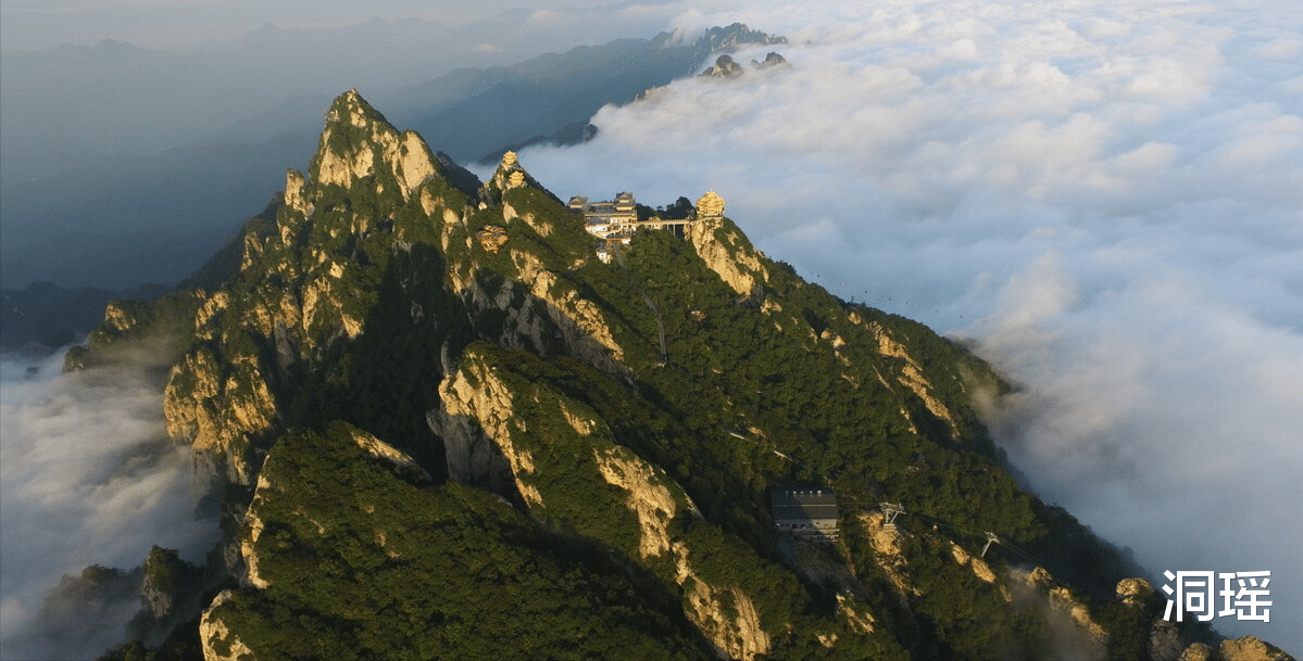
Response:
[{"label": "vast white sea of clouds filling the right side beyond the mountain", "polygon": [[[693,3],[790,68],[606,107],[521,164],[708,189],[770,256],[975,342],[1031,485],[1164,570],[1273,571],[1303,653],[1303,9],[1293,0]],[[1160,582],[1161,584],[1161,582]],[[1156,586],[1157,587],[1157,586]]]}]

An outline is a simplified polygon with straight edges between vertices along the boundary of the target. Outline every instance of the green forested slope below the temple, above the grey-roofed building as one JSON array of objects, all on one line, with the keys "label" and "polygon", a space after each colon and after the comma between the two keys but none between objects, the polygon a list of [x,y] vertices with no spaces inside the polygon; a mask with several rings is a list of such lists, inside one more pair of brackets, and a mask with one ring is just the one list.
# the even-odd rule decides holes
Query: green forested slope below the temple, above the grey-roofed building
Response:
[{"label": "green forested slope below the temple, above the grey-roofed building", "polygon": [[[908,320],[847,306],[771,263],[769,282],[739,297],[691,245],[667,233],[640,234],[625,263],[624,272],[589,282],[598,299],[618,302],[619,317],[632,327],[619,340],[648,396],[693,437],[683,461],[694,470],[679,472],[691,480],[723,470],[719,478],[727,479],[705,479],[711,491],[723,484],[748,492],[715,491],[702,500],[748,504],[747,518],[764,520],[764,485],[826,484],[848,500],[894,498],[1011,539],[1037,533],[1031,500],[1001,470],[964,403],[973,386],[964,372],[984,376],[989,368],[960,347]],[[761,311],[766,302],[780,310]],[[909,347],[937,398],[949,402],[958,435],[912,392],[880,380],[899,375],[906,360],[880,353],[866,323],[847,320],[851,312]],[[663,360],[655,345],[661,329]],[[834,347],[820,337],[825,333],[844,345]]]}]

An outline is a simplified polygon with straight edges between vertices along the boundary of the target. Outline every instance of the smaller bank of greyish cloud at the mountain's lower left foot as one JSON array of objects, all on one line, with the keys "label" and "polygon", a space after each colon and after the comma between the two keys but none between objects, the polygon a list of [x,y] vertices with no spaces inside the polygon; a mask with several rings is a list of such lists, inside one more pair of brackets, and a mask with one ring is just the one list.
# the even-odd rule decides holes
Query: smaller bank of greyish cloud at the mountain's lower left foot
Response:
[{"label": "smaller bank of greyish cloud at the mountain's lower left foot", "polygon": [[[129,571],[150,548],[203,562],[218,522],[195,514],[189,446],[167,440],[150,362],[61,373],[63,351],[0,360],[0,658],[94,658],[138,599],[50,604],[63,575]],[[34,367],[34,371],[29,368]],[[68,614],[77,622],[52,622]]]}]

